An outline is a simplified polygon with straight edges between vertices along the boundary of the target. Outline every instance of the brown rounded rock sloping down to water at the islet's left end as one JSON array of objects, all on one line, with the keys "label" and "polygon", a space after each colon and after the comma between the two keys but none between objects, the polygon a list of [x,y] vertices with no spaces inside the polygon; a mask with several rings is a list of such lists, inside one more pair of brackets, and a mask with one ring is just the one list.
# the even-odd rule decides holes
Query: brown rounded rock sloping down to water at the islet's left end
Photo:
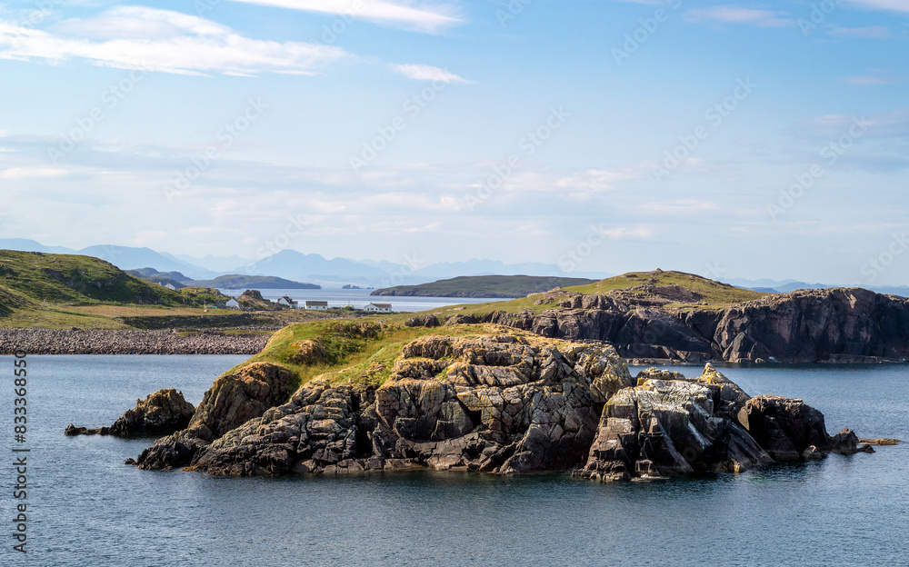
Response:
[{"label": "brown rounded rock sloping down to water at the islet's left end", "polygon": [[296,376],[273,363],[252,363],[220,376],[205,392],[185,430],[155,442],[136,463],[140,469],[173,469],[188,465],[195,453],[287,400]]}]

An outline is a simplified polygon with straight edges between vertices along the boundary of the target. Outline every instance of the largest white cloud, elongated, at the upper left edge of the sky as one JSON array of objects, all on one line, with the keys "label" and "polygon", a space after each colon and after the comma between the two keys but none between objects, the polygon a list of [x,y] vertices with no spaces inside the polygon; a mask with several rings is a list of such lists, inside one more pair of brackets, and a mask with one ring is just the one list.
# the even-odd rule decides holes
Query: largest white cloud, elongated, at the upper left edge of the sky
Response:
[{"label": "largest white cloud, elongated, at the upper left edge of the sky", "polygon": [[183,75],[250,75],[312,74],[346,55],[338,47],[250,39],[204,18],[139,6],[68,20],[57,29],[55,34],[0,22],[0,59],[54,64],[75,58]]}]

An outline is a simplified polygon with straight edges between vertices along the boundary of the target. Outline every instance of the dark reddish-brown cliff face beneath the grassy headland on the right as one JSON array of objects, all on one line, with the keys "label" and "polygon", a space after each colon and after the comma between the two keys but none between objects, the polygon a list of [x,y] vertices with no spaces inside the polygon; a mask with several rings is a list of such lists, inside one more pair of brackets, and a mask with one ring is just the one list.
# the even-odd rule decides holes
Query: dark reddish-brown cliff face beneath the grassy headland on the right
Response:
[{"label": "dark reddish-brown cliff face beneath the grassy headland on the right", "polygon": [[[454,315],[450,322],[492,322],[547,337],[604,341],[630,359],[870,363],[909,358],[909,300],[857,288],[766,295],[715,310],[683,309],[630,293],[553,293],[540,303],[559,308]],[[416,318],[408,324],[427,323],[435,321]]]}]

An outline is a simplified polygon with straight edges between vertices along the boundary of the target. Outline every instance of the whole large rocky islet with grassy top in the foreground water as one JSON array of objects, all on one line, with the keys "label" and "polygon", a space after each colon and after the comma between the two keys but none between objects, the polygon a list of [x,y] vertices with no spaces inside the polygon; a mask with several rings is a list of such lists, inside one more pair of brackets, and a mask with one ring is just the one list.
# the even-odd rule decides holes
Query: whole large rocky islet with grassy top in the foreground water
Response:
[{"label": "whole large rocky islet with grassy top in the foreground water", "polygon": [[613,346],[494,323],[300,323],[218,377],[187,426],[131,463],[218,475],[743,472],[872,451],[802,400],[750,397],[707,364],[633,377]]}]

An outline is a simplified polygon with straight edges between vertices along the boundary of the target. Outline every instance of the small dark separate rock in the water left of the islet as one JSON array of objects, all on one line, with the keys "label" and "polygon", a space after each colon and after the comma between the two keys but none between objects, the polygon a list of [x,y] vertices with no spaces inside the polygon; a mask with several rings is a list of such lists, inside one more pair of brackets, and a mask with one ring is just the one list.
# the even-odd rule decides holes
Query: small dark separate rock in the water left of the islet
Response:
[{"label": "small dark separate rock in the water left of the islet", "polygon": [[70,423],[66,435],[165,435],[184,429],[195,413],[192,403],[182,392],[173,388],[150,393],[145,400],[136,400],[135,408],[127,410],[110,427],[86,429]]}]

